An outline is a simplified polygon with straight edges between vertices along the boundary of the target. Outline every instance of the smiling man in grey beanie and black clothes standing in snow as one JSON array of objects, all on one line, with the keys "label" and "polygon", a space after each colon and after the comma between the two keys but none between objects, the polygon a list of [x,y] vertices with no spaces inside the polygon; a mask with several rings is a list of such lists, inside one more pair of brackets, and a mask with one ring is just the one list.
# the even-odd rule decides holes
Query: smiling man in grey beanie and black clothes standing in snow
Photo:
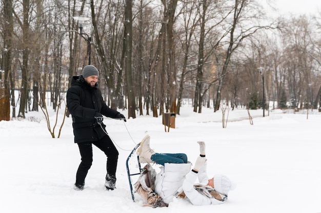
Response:
[{"label": "smiling man in grey beanie and black clothes standing in snow", "polygon": [[97,68],[87,65],[82,75],[72,78],[71,87],[67,91],[67,107],[72,115],[74,142],[77,143],[82,157],[76,173],[75,190],[84,189],[85,178],[92,164],[92,145],[107,156],[106,189],[116,188],[118,151],[106,132],[103,115],[125,122],[126,118],[106,105],[102,92],[98,89],[98,76]]}]

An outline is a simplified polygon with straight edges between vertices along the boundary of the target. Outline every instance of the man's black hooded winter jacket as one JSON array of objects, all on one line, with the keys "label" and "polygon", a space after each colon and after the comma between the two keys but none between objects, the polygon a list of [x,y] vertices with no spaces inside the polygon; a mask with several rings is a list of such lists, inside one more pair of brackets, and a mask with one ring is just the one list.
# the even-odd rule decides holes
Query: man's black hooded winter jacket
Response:
[{"label": "man's black hooded winter jacket", "polygon": [[95,113],[115,118],[117,112],[103,100],[98,84],[91,87],[82,76],[74,76],[67,91],[67,107],[72,115],[75,143],[96,141],[106,135],[106,126],[97,124]]}]

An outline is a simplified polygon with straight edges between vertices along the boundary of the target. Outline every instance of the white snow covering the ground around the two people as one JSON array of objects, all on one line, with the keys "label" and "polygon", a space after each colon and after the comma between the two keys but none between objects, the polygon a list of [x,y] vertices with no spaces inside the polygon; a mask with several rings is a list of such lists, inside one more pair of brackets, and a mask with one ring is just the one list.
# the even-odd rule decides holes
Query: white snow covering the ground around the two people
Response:
[{"label": "white snow covering the ground around the two people", "polygon": [[[50,113],[53,127],[55,113]],[[247,110],[230,110],[227,128],[223,128],[222,111],[203,108],[199,114],[184,105],[176,116],[176,128],[169,132],[161,116],[137,114],[126,123],[105,117],[119,151],[114,191],[104,190],[106,157],[96,147],[85,190],[73,190],[80,155],[73,143],[71,117],[66,118],[60,138],[51,137],[42,112],[26,113],[25,120],[2,121],[0,212],[320,212],[321,114],[309,110],[307,119],[306,111],[274,110],[269,116],[266,111],[265,117],[262,110],[250,113],[253,125]],[[55,135],[61,126],[59,119]],[[169,207],[151,208],[143,207],[136,194],[133,202],[126,159],[146,134],[156,152],[184,152],[191,162],[199,154],[196,141],[204,140],[209,176],[225,174],[237,183],[227,203],[193,206],[174,199]],[[135,162],[130,161],[131,173],[138,171]],[[159,169],[159,165],[153,167]],[[134,183],[138,176],[131,178]]]}]

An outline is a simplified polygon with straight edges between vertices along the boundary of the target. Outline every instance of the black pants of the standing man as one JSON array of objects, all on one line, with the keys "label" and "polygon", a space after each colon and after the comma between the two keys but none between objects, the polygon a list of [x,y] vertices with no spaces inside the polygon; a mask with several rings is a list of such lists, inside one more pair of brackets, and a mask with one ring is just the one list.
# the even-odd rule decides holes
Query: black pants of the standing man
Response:
[{"label": "black pants of the standing man", "polygon": [[102,150],[107,156],[107,175],[115,176],[118,161],[118,151],[112,143],[110,137],[106,135],[101,140],[94,142],[79,143],[79,152],[82,162],[79,164],[76,174],[76,184],[85,184],[85,178],[92,165],[92,145]]}]

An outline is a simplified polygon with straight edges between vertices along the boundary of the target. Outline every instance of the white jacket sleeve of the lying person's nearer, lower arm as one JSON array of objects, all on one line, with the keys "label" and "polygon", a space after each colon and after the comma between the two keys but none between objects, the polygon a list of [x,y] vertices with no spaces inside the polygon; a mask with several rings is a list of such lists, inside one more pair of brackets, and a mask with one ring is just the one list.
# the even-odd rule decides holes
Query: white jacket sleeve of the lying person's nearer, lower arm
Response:
[{"label": "white jacket sleeve of the lying person's nearer, lower arm", "polygon": [[190,171],[183,182],[183,190],[186,197],[193,205],[210,205],[212,201],[210,198],[200,194],[194,188],[194,182],[197,178],[197,174]]}]

